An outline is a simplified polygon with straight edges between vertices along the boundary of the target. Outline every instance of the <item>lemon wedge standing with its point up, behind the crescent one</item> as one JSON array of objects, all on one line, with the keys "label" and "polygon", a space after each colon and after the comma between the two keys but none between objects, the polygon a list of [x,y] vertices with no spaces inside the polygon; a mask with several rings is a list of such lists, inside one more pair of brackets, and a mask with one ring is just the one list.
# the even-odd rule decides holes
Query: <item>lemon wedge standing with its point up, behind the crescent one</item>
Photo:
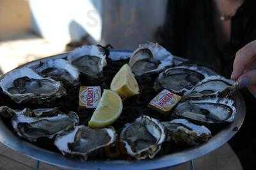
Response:
[{"label": "lemon wedge standing with its point up, behind the crescent one", "polygon": [[128,64],[122,66],[118,73],[116,73],[111,82],[110,89],[117,92],[122,99],[140,94],[139,85]]}]

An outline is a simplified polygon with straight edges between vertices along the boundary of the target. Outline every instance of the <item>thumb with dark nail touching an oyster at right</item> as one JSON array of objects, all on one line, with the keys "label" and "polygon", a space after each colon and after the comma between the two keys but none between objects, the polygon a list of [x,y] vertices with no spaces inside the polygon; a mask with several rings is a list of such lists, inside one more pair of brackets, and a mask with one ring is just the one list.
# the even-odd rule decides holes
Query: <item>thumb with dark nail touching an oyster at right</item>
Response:
[{"label": "thumb with dark nail touching an oyster at right", "polygon": [[242,74],[238,80],[239,89],[256,85],[256,70],[250,70]]}]

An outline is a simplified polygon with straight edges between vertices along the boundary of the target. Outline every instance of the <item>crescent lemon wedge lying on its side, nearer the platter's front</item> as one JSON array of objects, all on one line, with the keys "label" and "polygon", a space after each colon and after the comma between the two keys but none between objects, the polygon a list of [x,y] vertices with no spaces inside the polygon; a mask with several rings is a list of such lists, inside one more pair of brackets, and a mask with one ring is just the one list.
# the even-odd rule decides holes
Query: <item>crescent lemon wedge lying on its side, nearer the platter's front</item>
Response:
[{"label": "crescent lemon wedge lying on its side, nearer the platter's front", "polygon": [[123,103],[121,97],[116,92],[104,90],[88,125],[92,128],[107,127],[116,121],[122,110]]}]

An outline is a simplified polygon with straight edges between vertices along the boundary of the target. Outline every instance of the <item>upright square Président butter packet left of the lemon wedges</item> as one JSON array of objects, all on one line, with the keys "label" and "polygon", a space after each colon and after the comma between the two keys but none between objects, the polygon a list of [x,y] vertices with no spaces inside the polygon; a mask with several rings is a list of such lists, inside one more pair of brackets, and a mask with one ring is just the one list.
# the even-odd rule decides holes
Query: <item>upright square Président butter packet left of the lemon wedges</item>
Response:
[{"label": "upright square Pr\u00e9sident butter packet left of the lemon wedges", "polygon": [[79,107],[81,108],[97,108],[101,97],[101,89],[99,86],[82,86],[79,91]]}]

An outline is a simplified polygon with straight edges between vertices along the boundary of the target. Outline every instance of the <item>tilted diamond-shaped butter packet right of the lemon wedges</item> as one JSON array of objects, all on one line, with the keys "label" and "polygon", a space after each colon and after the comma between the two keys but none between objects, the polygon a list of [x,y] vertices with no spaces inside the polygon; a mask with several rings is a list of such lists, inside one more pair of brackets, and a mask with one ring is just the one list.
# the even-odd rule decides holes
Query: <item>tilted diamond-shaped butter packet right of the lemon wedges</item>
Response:
[{"label": "tilted diamond-shaped butter packet right of the lemon wedges", "polygon": [[179,103],[181,98],[181,96],[164,89],[162,92],[157,94],[152,101],[150,101],[148,107],[161,113],[166,113],[172,110],[172,108]]}]

